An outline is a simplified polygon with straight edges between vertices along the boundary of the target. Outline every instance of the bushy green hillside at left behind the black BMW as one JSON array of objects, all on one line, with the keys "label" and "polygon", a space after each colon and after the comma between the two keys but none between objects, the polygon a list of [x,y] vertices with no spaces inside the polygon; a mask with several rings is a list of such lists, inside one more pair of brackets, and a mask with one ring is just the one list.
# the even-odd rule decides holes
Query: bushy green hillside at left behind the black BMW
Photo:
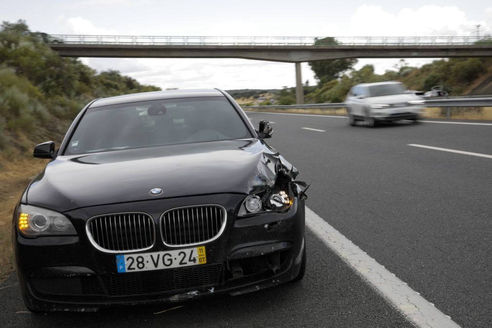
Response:
[{"label": "bushy green hillside at left behind the black BMW", "polygon": [[23,21],[0,26],[0,165],[1,159],[29,154],[36,143],[60,141],[94,98],[159,90],[62,58],[38,35]]}]

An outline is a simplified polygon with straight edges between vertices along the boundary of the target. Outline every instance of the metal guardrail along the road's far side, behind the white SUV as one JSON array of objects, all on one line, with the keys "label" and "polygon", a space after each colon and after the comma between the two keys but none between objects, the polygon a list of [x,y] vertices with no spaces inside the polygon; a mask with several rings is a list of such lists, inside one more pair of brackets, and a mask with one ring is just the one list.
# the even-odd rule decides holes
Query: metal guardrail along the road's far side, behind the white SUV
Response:
[{"label": "metal guardrail along the road's far side, behind the white SUV", "polygon": [[[492,97],[470,97],[470,98],[439,98],[425,99],[426,107],[492,107]],[[268,108],[345,108],[343,102],[328,104],[306,104],[306,105],[271,105],[271,106],[243,106],[244,109],[268,109]]]}]

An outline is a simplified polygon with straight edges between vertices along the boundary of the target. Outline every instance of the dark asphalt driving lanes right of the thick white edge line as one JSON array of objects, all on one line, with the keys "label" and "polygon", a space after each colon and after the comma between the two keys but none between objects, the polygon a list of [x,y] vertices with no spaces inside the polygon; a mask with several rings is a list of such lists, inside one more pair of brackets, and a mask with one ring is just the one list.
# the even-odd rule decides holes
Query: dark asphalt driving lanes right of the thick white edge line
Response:
[{"label": "dark asphalt driving lanes right of the thick white edge line", "polygon": [[492,327],[492,159],[407,146],[492,155],[492,125],[247,114],[275,122],[310,209],[461,326]]}]

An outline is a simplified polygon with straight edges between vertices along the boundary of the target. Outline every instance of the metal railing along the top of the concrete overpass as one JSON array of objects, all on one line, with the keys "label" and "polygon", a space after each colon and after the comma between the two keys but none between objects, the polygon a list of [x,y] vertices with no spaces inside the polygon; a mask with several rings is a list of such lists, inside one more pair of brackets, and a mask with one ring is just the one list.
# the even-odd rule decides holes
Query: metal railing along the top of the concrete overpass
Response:
[{"label": "metal railing along the top of the concrete overpass", "polygon": [[[293,36],[138,36],[138,35],[68,35],[51,34],[63,43],[79,44],[163,44],[163,45],[314,45],[323,37]],[[490,38],[489,38],[490,39]],[[489,40],[488,39],[488,40]],[[318,45],[444,45],[473,44],[484,40],[477,36],[347,36],[336,37],[336,42],[321,42]],[[318,41],[319,42],[319,41]]]}]

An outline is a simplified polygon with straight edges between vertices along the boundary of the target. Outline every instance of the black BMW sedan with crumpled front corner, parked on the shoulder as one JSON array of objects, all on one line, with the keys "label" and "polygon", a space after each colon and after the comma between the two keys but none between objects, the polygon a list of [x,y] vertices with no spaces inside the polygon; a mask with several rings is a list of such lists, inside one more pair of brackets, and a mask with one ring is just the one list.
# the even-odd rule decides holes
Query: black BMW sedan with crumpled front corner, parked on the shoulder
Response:
[{"label": "black BMW sedan with crumpled front corner, parked on the shoulder", "polygon": [[239,295],[304,276],[307,184],[218,89],[96,99],[13,215],[31,311]]}]

